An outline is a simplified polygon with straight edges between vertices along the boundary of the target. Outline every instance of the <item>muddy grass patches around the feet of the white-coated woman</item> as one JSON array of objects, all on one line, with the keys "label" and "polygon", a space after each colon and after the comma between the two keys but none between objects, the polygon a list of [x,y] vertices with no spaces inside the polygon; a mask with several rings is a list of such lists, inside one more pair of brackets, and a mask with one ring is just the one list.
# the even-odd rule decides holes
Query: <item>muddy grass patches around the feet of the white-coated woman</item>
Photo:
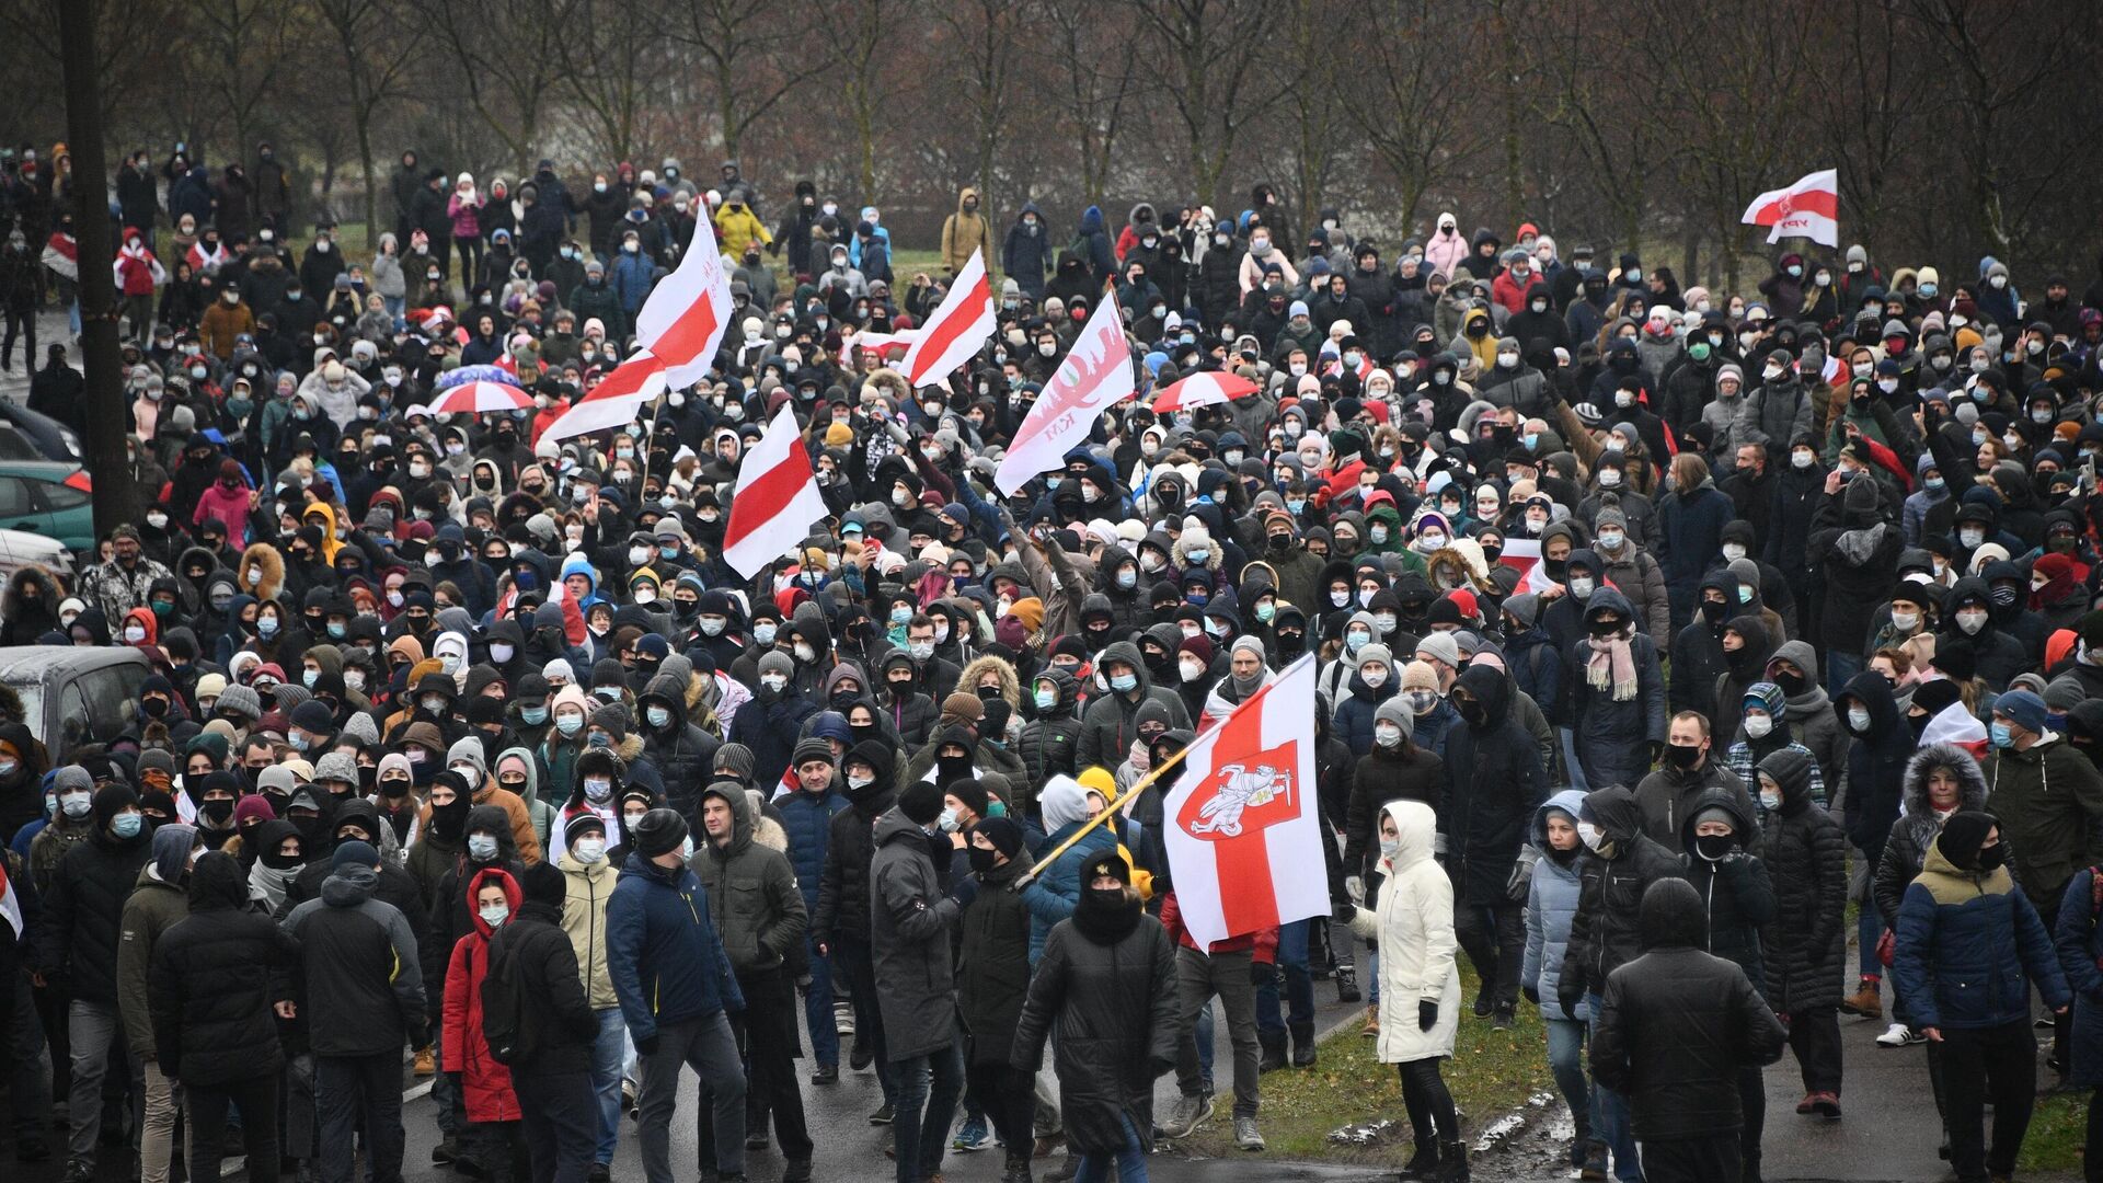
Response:
[{"label": "muddy grass patches around the feet of the white-coated woman", "polygon": [[[1474,998],[1474,975],[1462,962],[1462,1004]],[[1525,1105],[1527,1097],[1552,1088],[1548,1076],[1548,1042],[1533,1006],[1518,1008],[1510,1031],[1495,1029],[1489,1019],[1462,1012],[1453,1059],[1445,1063],[1447,1088],[1462,1111],[1462,1126],[1472,1141],[1483,1126]],[[1264,1076],[1264,1107],[1258,1128],[1268,1151],[1281,1160],[1325,1160],[1365,1166],[1401,1166],[1409,1160],[1409,1116],[1403,1109],[1403,1084],[1394,1065],[1380,1063],[1377,1040],[1359,1034],[1350,1023],[1321,1046],[1310,1069],[1281,1069]],[[1218,1114],[1197,1137],[1182,1139],[1178,1149],[1197,1156],[1230,1158],[1234,1126],[1230,1120],[1232,1065],[1213,1065],[1218,1082]],[[1329,1130],[1390,1118],[1390,1137],[1369,1147],[1329,1141]],[[2076,1139],[2078,1141],[2078,1139]]]}]

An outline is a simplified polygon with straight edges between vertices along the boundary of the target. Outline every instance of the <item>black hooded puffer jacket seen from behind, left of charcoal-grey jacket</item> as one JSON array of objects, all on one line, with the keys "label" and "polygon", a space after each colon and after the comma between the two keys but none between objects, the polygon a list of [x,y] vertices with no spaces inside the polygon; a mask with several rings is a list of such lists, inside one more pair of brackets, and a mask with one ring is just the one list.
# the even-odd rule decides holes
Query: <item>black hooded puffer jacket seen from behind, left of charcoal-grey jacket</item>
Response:
[{"label": "black hooded puffer jacket seen from behind, left of charcoal-grey jacket", "polygon": [[189,916],[154,947],[154,1040],[160,1069],[183,1084],[275,1076],[284,1065],[271,1015],[271,975],[299,960],[299,943],[250,907],[231,855],[189,871]]}]

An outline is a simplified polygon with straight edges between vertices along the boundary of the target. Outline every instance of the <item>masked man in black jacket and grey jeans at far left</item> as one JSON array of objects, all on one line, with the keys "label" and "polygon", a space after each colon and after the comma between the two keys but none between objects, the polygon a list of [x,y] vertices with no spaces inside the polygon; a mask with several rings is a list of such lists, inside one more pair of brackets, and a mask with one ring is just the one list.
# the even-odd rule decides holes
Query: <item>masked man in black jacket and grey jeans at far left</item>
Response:
[{"label": "masked man in black jacket and grey jeans at far left", "polygon": [[139,869],[154,855],[139,794],[128,785],[95,791],[95,829],[59,859],[44,895],[44,918],[36,941],[36,985],[63,985],[72,1002],[65,1031],[72,1042],[72,1092],[67,1095],[65,1177],[95,1177],[97,1137],[122,1130],[122,1114],[103,1111],[103,1076],[109,1046],[122,1038],[118,1017],[118,933],[124,901],[139,882]]}]

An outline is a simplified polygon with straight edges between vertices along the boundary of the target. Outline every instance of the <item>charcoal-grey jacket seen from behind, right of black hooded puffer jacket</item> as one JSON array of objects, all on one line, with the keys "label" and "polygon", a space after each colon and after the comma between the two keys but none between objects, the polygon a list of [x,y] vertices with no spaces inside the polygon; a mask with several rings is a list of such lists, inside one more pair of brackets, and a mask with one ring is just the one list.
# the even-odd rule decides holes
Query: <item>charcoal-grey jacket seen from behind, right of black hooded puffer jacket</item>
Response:
[{"label": "charcoal-grey jacket seen from behind, right of black hooded puffer jacket", "polygon": [[318,1057],[400,1052],[429,1046],[423,966],[408,918],[374,899],[370,867],[343,867],[280,922],[301,945],[290,998]]}]

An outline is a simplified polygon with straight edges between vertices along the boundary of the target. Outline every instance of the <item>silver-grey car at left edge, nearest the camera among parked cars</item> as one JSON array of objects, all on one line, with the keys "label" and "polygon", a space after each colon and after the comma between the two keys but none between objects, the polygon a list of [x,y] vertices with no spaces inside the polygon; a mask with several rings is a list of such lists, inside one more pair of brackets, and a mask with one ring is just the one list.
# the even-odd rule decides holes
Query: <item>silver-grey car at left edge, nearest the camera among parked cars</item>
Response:
[{"label": "silver-grey car at left edge, nearest the camera among parked cars", "polygon": [[53,760],[124,735],[151,667],[132,646],[17,644],[0,648],[0,697],[21,703],[21,722]]}]

